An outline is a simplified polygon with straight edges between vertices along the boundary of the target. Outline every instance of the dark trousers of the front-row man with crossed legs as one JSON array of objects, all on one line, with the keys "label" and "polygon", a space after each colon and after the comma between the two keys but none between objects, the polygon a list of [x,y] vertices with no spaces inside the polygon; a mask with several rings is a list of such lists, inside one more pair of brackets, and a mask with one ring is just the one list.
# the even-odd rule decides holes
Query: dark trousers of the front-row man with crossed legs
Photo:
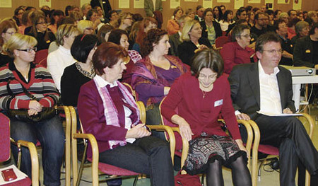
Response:
[{"label": "dark trousers of the front-row man with crossed legs", "polygon": [[318,168],[318,152],[300,120],[259,115],[255,122],[261,132],[260,144],[279,148],[281,186],[295,185],[298,161],[314,174]]}]

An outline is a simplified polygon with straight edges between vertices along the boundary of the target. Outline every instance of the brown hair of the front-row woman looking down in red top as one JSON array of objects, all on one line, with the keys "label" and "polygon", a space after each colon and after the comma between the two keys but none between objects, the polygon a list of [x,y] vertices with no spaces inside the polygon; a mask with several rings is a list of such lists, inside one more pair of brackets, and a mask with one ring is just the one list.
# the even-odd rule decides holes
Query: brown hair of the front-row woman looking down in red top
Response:
[{"label": "brown hair of the front-row woman looking down in red top", "polygon": [[213,49],[204,49],[196,52],[192,58],[191,74],[199,76],[202,69],[208,68],[218,74],[220,77],[223,74],[224,64],[220,53]]}]

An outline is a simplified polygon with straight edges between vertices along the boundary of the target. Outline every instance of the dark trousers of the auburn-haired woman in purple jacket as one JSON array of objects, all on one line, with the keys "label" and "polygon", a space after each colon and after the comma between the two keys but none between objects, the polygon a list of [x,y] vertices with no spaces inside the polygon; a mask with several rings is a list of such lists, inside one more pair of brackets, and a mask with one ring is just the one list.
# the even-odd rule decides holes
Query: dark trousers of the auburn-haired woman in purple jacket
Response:
[{"label": "dark trousers of the auburn-haired woman in purple jacket", "polygon": [[152,186],[175,185],[170,147],[153,136],[100,153],[100,162],[150,175]]}]

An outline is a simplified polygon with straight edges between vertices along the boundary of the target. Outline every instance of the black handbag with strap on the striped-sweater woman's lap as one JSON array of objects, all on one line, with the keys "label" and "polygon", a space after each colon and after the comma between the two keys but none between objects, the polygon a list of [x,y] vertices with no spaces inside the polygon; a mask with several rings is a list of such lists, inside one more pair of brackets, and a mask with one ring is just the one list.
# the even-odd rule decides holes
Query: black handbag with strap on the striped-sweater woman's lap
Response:
[{"label": "black handbag with strap on the striped-sweater woman's lap", "polygon": [[[6,84],[6,88],[8,90],[8,93],[12,96],[12,98],[16,97],[16,95],[13,94],[11,91],[11,88],[9,86],[10,82],[12,81],[9,80],[8,83]],[[27,95],[31,100],[38,100],[35,98],[34,95],[29,93],[26,88],[21,84],[23,88],[23,92],[25,95]],[[38,112],[37,115],[29,115],[28,114],[28,109],[9,109],[7,110],[7,114],[9,118],[15,118],[16,120],[20,120],[23,122],[28,122],[28,123],[36,123],[40,122],[42,120],[48,120],[54,117],[55,115],[59,114],[59,111],[57,110],[57,105],[54,107],[43,107],[41,112]]]}]

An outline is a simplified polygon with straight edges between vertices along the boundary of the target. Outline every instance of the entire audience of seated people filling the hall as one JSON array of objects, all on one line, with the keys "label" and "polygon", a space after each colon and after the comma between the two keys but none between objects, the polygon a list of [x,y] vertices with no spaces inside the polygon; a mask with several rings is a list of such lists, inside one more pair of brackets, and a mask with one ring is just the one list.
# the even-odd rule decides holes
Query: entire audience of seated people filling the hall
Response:
[{"label": "entire audience of seated people filling the hall", "polygon": [[[278,65],[318,70],[317,10],[177,7],[163,21],[161,1],[153,8],[145,0],[146,17],[112,10],[107,2],[92,0],[65,11],[19,6],[12,18],[0,21],[1,112],[24,109],[32,116],[72,105],[84,131],[98,141],[100,162],[150,175],[151,185],[175,185],[165,135],[141,122],[123,84],[128,83],[146,107],[146,124],[162,124],[162,114],[179,126],[190,144],[183,169],[206,173],[208,186],[223,185],[222,165],[232,169],[234,185],[252,185],[238,119],[255,120],[261,144],[279,148],[281,185],[295,185],[298,161],[317,177],[318,152],[302,123],[258,113],[296,111],[290,72]],[[225,44],[219,47],[221,38]],[[35,64],[44,50],[47,66]],[[44,184],[60,185],[59,117],[10,120],[13,139],[40,141]],[[12,149],[17,158],[18,149]],[[21,170],[31,177],[30,155],[23,151]],[[91,153],[89,148],[88,157]]]}]

